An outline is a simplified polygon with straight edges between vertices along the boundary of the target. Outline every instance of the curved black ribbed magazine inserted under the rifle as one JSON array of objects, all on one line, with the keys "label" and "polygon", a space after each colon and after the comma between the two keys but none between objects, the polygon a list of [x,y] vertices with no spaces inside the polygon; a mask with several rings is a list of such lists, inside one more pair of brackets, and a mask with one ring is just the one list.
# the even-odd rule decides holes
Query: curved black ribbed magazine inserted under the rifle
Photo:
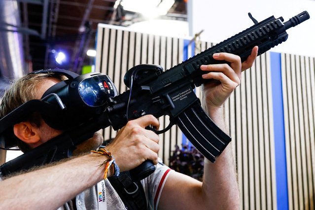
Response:
[{"label": "curved black ribbed magazine inserted under the rifle", "polygon": [[212,163],[231,141],[231,137],[217,127],[199,101],[180,113],[176,118],[176,124],[191,143]]}]

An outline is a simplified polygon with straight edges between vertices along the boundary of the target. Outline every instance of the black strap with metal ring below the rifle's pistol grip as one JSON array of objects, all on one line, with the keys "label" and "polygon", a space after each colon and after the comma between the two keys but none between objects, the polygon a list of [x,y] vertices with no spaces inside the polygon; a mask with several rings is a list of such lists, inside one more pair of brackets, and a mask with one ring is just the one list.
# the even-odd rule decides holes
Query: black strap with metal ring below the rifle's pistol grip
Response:
[{"label": "black strap with metal ring below the rifle's pistol grip", "polygon": [[147,210],[145,193],[140,181],[133,182],[129,172],[122,172],[118,177],[108,177],[128,210]]}]

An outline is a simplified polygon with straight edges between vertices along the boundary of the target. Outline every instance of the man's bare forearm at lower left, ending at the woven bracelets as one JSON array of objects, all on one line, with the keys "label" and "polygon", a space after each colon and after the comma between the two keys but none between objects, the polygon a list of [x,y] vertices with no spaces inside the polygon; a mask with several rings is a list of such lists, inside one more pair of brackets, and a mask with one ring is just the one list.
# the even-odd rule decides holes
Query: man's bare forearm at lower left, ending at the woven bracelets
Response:
[{"label": "man's bare forearm at lower left, ending at the woven bracelets", "polygon": [[88,154],[0,181],[0,209],[57,209],[104,178],[104,161]]}]

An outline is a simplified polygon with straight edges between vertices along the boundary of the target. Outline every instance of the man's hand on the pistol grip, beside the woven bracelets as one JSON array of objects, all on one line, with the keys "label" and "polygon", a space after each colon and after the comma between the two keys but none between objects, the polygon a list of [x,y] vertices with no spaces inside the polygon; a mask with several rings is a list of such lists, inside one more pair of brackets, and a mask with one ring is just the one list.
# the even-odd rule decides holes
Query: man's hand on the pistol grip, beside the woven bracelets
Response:
[{"label": "man's hand on the pistol grip, beside the woven bracelets", "polygon": [[153,115],[145,115],[129,121],[119,130],[116,138],[106,146],[106,150],[114,157],[120,171],[136,168],[145,160],[153,164],[158,162],[159,136],[153,131],[146,130],[147,126],[160,126]]}]

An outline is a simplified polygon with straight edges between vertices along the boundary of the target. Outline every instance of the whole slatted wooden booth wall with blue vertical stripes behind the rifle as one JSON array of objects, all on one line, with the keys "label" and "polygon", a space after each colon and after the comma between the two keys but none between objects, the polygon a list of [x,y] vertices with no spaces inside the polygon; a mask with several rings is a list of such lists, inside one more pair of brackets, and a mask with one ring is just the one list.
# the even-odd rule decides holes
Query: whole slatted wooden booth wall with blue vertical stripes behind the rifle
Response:
[{"label": "whole slatted wooden booth wall with blue vertical stripes behind the rifle", "polygon": [[[156,64],[168,70],[212,45],[99,24],[95,69],[107,74],[122,93],[127,90],[124,74],[132,67]],[[315,208],[314,63],[312,57],[262,54],[242,73],[241,85],[226,102],[241,209]],[[200,88],[195,91],[201,98]],[[159,120],[161,129],[169,123],[168,117]],[[104,130],[105,140],[115,134],[111,128]],[[159,157],[169,164],[175,145],[189,141],[173,126],[160,135],[160,144]]]}]

